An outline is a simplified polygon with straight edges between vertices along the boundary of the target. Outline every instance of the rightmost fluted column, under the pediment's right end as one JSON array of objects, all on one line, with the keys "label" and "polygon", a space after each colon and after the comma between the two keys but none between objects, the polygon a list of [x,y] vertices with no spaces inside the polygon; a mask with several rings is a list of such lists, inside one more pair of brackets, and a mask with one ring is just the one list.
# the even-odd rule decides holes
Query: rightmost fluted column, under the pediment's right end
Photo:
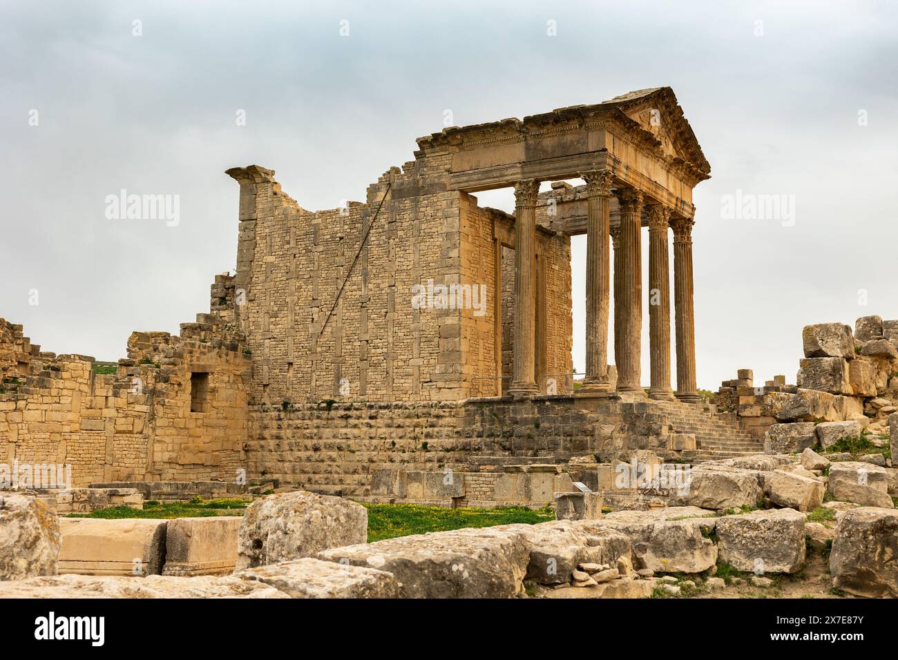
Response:
[{"label": "rightmost fluted column, under the pediment's right end", "polygon": [[677,218],[674,228],[674,305],[676,307],[676,397],[696,403],[695,320],[692,303],[691,218]]}]

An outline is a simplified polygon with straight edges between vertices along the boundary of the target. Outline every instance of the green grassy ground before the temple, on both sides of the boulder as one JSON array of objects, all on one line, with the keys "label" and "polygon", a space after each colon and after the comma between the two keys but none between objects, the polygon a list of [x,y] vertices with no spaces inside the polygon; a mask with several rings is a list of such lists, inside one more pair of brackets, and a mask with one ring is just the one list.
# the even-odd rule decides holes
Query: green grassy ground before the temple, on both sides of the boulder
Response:
[{"label": "green grassy ground before the temple, on both sides of the boulder", "polygon": [[[249,502],[241,499],[202,500],[189,502],[157,502],[146,500],[143,510],[130,506],[111,506],[92,514],[70,514],[70,518],[187,518],[207,515],[242,515]],[[462,527],[489,527],[494,524],[542,523],[554,520],[551,509],[533,511],[523,506],[497,509],[418,506],[411,504],[365,504],[368,510],[368,541],[382,541],[396,536],[445,532]]]}]

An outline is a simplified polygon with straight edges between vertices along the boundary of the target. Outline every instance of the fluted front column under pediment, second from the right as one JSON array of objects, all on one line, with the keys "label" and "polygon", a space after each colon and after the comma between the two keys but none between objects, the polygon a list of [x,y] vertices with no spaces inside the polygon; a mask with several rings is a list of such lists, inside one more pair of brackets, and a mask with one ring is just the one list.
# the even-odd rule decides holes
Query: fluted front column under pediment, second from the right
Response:
[{"label": "fluted front column under pediment, second from the right", "polygon": [[652,399],[673,399],[671,389],[671,291],[667,222],[670,210],[648,207],[648,338]]}]

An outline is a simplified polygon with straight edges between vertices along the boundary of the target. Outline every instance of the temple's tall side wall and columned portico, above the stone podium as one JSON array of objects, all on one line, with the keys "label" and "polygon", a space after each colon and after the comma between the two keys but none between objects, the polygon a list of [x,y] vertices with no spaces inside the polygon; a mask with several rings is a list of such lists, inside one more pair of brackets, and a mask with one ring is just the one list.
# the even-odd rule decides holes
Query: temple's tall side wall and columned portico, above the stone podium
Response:
[{"label": "temple's tall side wall and columned portico, above the stone podium", "polygon": [[[235,311],[253,355],[254,398],[570,392],[569,237],[580,233],[587,236],[583,392],[612,391],[613,300],[616,389],[641,396],[647,226],[650,396],[674,396],[672,229],[677,395],[697,400],[691,199],[709,164],[669,88],[446,128],[419,138],[418,147],[414,161],[369,187],[364,204],[330,211],[306,211],[264,168],[228,171],[241,185],[233,286],[245,303]],[[540,194],[541,181],[566,179],[585,185]],[[514,189],[514,216],[471,196],[500,188]],[[422,289],[427,295],[416,304]]]}]

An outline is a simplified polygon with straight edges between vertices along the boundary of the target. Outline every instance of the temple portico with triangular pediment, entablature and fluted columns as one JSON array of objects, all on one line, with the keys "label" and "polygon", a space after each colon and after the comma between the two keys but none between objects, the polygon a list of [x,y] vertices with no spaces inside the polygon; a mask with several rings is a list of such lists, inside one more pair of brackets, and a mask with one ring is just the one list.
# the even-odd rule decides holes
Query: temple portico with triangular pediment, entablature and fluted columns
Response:
[{"label": "temple portico with triangular pediment, entablature and fluted columns", "polygon": [[[447,128],[421,138],[418,145],[424,154],[440,150],[450,159],[449,189],[515,189],[514,376],[508,393],[521,397],[541,392],[534,353],[534,234],[541,226],[586,235],[585,379],[580,393],[646,396],[640,358],[647,316],[651,364],[647,395],[656,400],[674,396],[698,400],[692,189],[709,178],[710,167],[670,88],[630,92],[596,105],[553,110],[523,120]],[[570,179],[582,179],[585,184],[539,193],[542,181]],[[643,227],[648,230],[647,290],[642,283]],[[670,346],[671,230],[675,393]],[[616,392],[608,373],[612,309]]]}]

